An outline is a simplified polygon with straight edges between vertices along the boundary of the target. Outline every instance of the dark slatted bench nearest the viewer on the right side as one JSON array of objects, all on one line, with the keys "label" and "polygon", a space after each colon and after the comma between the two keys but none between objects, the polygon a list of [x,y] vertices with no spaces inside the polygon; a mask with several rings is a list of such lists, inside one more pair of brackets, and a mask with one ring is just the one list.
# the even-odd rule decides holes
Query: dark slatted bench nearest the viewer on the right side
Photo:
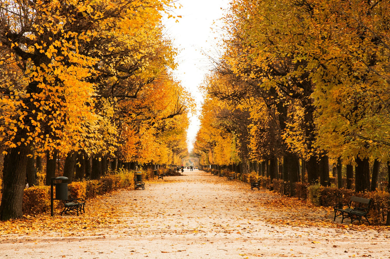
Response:
[{"label": "dark slatted bench nearest the viewer on the right side", "polygon": [[333,221],[336,220],[337,216],[342,216],[341,223],[343,222],[344,218],[351,218],[351,223],[355,220],[359,220],[360,223],[362,223],[362,221],[365,221],[370,225],[370,222],[367,218],[367,213],[370,210],[370,205],[371,199],[351,196],[351,198],[349,198],[349,203],[339,203],[333,206],[333,209],[335,210],[335,218],[333,219]]}]

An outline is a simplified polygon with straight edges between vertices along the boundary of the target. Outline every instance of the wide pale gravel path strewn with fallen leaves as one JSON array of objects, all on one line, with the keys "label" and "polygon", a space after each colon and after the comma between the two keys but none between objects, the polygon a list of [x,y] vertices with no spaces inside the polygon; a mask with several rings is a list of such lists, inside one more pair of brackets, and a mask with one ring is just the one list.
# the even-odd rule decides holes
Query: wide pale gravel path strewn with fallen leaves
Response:
[{"label": "wide pale gravel path strewn with fallen leaves", "polygon": [[0,258],[390,258],[388,227],[333,223],[326,208],[184,174],[101,196],[80,217],[0,226]]}]

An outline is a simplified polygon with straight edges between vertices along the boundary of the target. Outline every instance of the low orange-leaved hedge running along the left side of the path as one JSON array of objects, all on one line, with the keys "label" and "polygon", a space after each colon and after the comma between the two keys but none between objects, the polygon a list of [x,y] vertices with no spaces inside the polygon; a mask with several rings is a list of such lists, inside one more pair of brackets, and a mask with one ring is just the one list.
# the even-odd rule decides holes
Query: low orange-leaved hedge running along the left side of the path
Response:
[{"label": "low orange-leaved hedge running along the left side of the path", "polygon": [[[145,179],[145,173],[143,178]],[[134,185],[134,172],[119,169],[115,172],[108,172],[100,180],[74,181],[68,185],[72,197],[89,199],[100,194],[118,190]],[[55,196],[55,193],[53,194]],[[61,203],[55,201],[55,208]],[[38,214],[50,211],[50,186],[30,187],[24,190],[23,214]]]}]

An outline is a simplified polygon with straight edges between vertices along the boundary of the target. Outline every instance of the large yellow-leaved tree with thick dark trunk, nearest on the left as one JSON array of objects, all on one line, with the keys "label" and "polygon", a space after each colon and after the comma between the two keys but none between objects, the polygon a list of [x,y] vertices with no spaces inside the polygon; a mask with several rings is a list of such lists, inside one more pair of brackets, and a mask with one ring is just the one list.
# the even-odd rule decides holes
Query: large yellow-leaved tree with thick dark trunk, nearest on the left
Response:
[{"label": "large yellow-leaved tree with thick dark trunk, nearest on the left", "polygon": [[50,161],[57,153],[117,150],[115,94],[140,92],[172,62],[172,50],[151,62],[157,49],[169,49],[158,25],[169,2],[5,1],[2,220],[21,217],[27,155],[47,154]]}]

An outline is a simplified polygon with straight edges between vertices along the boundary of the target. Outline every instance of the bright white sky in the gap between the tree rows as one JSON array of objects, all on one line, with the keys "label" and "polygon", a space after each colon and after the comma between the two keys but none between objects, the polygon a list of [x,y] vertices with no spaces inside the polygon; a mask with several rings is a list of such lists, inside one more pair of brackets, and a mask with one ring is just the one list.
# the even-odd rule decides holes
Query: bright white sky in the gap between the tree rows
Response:
[{"label": "bright white sky in the gap between the tree rows", "polygon": [[[205,74],[209,71],[211,63],[207,55],[216,55],[216,42],[219,33],[213,33],[211,27],[220,25],[218,19],[222,18],[229,6],[229,0],[178,0],[176,5],[182,5],[181,9],[175,9],[176,15],[182,18],[164,19],[163,23],[167,32],[174,39],[174,46],[179,49],[176,60],[179,64],[174,76],[182,85],[190,91],[197,103],[198,114],[190,118],[190,127],[187,133],[188,150],[193,148],[193,140],[199,130],[199,109],[203,100],[199,86],[202,84]],[[222,9],[221,9],[222,7]],[[213,25],[213,22],[216,25]],[[217,37],[217,39],[214,39]]]}]

